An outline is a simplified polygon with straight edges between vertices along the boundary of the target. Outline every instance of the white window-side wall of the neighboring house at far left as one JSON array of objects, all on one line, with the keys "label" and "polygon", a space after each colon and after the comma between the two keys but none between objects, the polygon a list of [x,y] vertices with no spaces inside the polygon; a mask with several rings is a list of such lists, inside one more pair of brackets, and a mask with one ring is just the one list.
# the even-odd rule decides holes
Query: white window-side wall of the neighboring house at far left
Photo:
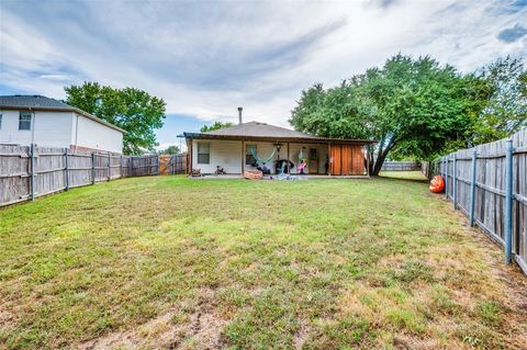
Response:
[{"label": "white window-side wall of the neighboring house at far left", "polygon": [[[34,112],[31,131],[19,131],[20,111],[2,111],[0,143],[45,147],[69,147],[71,135],[71,112]],[[34,138],[33,138],[34,137]]]}]

